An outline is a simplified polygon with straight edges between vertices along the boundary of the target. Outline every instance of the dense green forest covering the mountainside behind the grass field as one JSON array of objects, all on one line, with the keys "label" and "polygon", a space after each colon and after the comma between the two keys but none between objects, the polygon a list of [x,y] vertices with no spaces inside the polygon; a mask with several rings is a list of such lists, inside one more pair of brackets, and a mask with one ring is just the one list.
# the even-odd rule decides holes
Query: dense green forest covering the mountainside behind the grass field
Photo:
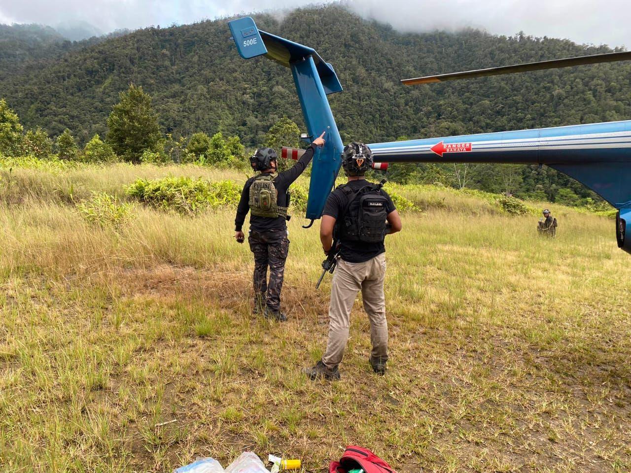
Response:
[{"label": "dense green forest covering the mountainside behind the grass field", "polygon": [[[345,90],[329,100],[345,142],[631,117],[631,64],[625,62],[412,88],[399,84],[401,78],[610,52],[608,47],[526,33],[401,33],[339,4],[295,9],[281,21],[266,14],[255,17],[262,30],[310,45],[333,64]],[[62,143],[71,136],[78,149],[96,135],[112,136],[110,114],[130,84],[150,97],[157,123],[147,148],[151,153],[169,143],[191,148],[195,134],[197,141],[221,134],[226,139],[218,146],[232,146],[226,153],[235,156],[239,146],[247,153],[269,141],[270,128],[283,117],[302,129],[290,71],[264,58],[243,61],[227,21],[151,27],[81,42],[36,25],[0,26],[0,98],[15,111],[31,142],[37,136],[45,141],[44,135],[58,142],[65,132]],[[50,152],[59,149],[52,146]],[[545,166],[391,165],[388,177],[570,205],[598,202],[582,185]]]}]

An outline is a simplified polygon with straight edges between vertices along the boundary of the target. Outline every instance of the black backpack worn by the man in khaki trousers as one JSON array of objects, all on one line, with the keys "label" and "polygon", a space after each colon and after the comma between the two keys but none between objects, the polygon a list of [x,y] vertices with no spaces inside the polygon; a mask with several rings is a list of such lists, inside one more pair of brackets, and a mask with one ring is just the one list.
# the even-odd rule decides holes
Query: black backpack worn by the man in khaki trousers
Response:
[{"label": "black backpack worn by the man in khaki trousers", "polygon": [[358,190],[348,184],[339,186],[348,197],[348,204],[336,221],[335,238],[365,243],[384,241],[388,215],[388,199],[381,190],[384,182],[368,184]]}]

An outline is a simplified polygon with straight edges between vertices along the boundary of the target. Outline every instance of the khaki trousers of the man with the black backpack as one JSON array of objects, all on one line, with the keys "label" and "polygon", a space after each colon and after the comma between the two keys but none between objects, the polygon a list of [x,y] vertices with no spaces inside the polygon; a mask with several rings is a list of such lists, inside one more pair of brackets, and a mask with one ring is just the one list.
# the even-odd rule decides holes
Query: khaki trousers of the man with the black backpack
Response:
[{"label": "khaki trousers of the man with the black backpack", "polygon": [[370,342],[372,357],[387,360],[388,324],[386,321],[386,254],[382,253],[363,263],[349,263],[343,259],[333,273],[331,283],[331,305],[329,307],[329,341],[322,363],[334,368],[342,361],[351,309],[357,293],[362,291],[363,308],[370,320]]}]

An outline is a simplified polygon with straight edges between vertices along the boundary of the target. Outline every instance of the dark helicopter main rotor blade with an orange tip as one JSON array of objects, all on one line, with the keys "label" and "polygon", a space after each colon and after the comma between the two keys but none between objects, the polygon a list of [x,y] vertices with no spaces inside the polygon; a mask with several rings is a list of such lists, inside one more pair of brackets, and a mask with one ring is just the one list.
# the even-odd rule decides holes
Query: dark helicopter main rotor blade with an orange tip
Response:
[{"label": "dark helicopter main rotor blade with an orange tip", "polygon": [[514,66],[489,67],[488,69],[476,69],[475,71],[439,74],[437,76],[417,77],[414,79],[401,79],[401,83],[404,85],[429,84],[435,82],[454,81],[456,79],[499,76],[500,74],[523,73],[526,71],[541,71],[542,69],[556,69],[557,67],[572,67],[582,66],[584,64],[598,64],[599,62],[628,60],[631,60],[631,51],[608,52],[606,54],[567,57],[566,59],[552,59],[551,61],[527,62],[526,64],[516,64]]}]

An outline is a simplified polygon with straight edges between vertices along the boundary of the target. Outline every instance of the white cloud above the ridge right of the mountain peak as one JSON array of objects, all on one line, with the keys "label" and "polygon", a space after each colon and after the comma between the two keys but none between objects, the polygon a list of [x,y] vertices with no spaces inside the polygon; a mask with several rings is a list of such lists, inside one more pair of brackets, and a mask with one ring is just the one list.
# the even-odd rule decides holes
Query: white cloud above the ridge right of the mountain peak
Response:
[{"label": "white cloud above the ridge right of the mountain peak", "polygon": [[578,43],[631,46],[628,0],[350,0],[348,6],[408,32],[471,26],[500,35],[523,31]]}]

